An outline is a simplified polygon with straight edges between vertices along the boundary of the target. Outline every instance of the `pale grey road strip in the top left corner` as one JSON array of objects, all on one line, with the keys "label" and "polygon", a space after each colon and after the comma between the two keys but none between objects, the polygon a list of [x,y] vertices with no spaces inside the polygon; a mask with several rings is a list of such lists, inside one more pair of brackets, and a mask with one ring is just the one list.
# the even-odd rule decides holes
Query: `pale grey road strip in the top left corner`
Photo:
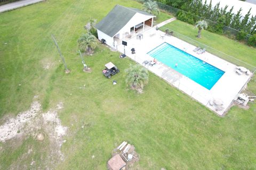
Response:
[{"label": "pale grey road strip in the top left corner", "polygon": [[38,3],[38,2],[41,2],[41,1],[44,1],[44,0],[22,0],[22,1],[9,3],[9,4],[6,4],[6,5],[2,5],[2,6],[0,6],[0,13],[5,12],[5,11],[9,11],[9,10],[13,10],[15,8],[19,8],[19,7],[22,7],[22,6],[35,4],[35,3]]}]

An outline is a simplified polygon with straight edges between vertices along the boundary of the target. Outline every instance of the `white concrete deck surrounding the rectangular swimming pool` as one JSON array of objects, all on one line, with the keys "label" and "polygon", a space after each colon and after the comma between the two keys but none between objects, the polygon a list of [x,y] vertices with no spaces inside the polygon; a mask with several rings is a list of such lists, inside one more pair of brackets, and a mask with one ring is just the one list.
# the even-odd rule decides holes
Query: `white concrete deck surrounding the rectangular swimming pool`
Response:
[{"label": "white concrete deck surrounding the rectangular swimming pool", "polygon": [[[152,28],[143,32],[143,39],[141,40],[137,39],[136,37],[127,40],[127,47],[125,47],[126,55],[132,60],[145,66],[149,71],[155,73],[165,81],[185,92],[190,97],[210,108],[218,115],[222,116],[225,114],[230,104],[234,99],[237,98],[239,91],[244,87],[244,84],[250,80],[252,74],[246,75],[243,73],[242,75],[238,75],[236,73],[236,65],[231,64],[215,55],[207,53],[207,49],[205,53],[197,54],[193,52],[193,50],[196,48],[195,46],[173,36],[164,36],[164,34],[164,32],[160,30],[156,31],[155,28]],[[184,50],[188,54],[191,54],[222,71],[225,71],[225,73],[218,80],[218,82],[214,84],[212,89],[208,90],[161,62],[157,62],[157,64],[153,66],[142,64],[147,60],[153,61],[154,58],[149,56],[147,53],[165,42]],[[131,48],[135,48],[135,54],[131,54]],[[123,45],[119,45],[117,49],[119,52],[124,52]],[[223,101],[223,109],[221,111],[217,111],[218,107],[216,105],[211,105],[212,102],[210,101],[213,99]]]}]

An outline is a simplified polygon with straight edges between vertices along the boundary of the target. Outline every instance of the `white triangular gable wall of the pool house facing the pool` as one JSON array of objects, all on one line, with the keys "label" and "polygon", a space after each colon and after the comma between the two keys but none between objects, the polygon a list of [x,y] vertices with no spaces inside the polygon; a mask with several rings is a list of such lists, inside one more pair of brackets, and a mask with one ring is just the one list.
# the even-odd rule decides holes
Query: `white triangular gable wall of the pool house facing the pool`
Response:
[{"label": "white triangular gable wall of the pool house facing the pool", "polygon": [[130,33],[130,29],[131,27],[134,27],[135,25],[138,25],[144,21],[147,21],[149,19],[153,18],[153,16],[149,16],[149,15],[143,15],[143,14],[140,14],[140,13],[136,13],[133,18],[127,22],[127,24],[120,30],[116,33],[116,35],[119,33],[120,36],[119,36],[119,39],[123,39],[124,38],[124,33],[125,32],[129,32]]}]

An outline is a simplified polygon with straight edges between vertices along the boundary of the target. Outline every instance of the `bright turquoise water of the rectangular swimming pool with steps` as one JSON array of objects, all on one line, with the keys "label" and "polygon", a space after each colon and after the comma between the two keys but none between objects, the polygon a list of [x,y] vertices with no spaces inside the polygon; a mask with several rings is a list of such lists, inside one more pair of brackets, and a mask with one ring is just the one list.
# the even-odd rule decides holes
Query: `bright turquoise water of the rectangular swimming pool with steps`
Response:
[{"label": "bright turquoise water of the rectangular swimming pool with steps", "polygon": [[[209,90],[225,73],[168,43],[159,45],[148,52],[148,55]],[[176,63],[178,64],[177,67],[175,66]]]}]

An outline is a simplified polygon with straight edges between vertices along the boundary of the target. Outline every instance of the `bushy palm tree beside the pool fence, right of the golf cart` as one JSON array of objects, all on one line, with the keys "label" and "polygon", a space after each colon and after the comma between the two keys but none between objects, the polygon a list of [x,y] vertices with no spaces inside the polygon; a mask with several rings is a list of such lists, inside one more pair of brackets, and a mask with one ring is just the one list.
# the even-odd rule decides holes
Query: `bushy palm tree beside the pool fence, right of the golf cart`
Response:
[{"label": "bushy palm tree beside the pool fence, right of the golf cart", "polygon": [[148,83],[148,70],[139,64],[130,64],[129,69],[126,69],[125,72],[127,86],[141,93],[143,87]]}]

